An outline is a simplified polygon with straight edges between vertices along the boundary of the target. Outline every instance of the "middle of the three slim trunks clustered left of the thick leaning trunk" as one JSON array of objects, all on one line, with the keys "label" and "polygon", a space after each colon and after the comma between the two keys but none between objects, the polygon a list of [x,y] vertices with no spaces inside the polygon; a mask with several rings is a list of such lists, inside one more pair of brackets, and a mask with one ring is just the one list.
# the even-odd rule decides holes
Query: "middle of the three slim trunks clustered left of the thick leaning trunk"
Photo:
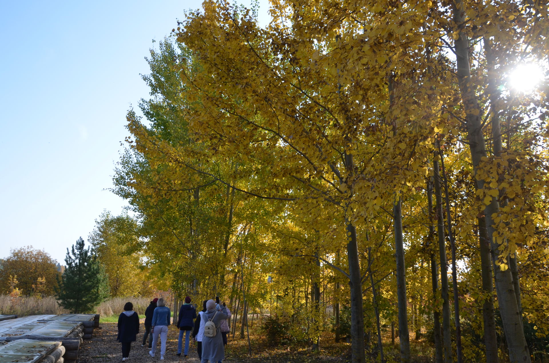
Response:
[{"label": "middle of the three slim trunks clustered left of the thick leaning trunk", "polygon": [[444,347],[444,362],[452,363],[452,337],[450,334],[450,289],[448,286],[448,266],[446,263],[446,242],[444,237],[444,215],[442,212],[442,190],[440,188],[439,162],[433,161],[435,199],[436,199],[436,231],[439,241],[440,258],[440,295],[442,297],[442,339]]}]

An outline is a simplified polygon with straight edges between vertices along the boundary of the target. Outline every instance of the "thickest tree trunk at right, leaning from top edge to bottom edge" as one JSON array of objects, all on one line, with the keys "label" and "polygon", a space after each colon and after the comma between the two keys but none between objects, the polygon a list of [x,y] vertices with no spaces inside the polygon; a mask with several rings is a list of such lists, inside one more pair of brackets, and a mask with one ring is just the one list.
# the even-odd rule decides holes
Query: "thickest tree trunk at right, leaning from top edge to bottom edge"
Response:
[{"label": "thickest tree trunk at right, leaning from top edge to bottom edge", "polygon": [[[453,20],[460,27],[458,38],[455,41],[456,63],[457,63],[457,78],[460,87],[461,98],[466,113],[467,140],[471,151],[471,160],[473,162],[473,170],[475,175],[480,165],[482,157],[486,157],[486,145],[482,132],[482,120],[480,118],[480,107],[478,104],[477,95],[474,92],[474,85],[470,77],[469,67],[469,41],[465,26],[466,8],[463,0],[455,0],[453,2]],[[475,179],[477,179],[475,177]],[[481,190],[484,188],[484,180],[477,179],[476,188]],[[501,321],[503,331],[509,349],[509,361],[512,363],[530,363],[530,353],[526,345],[524,330],[522,326],[522,316],[517,304],[515,287],[513,284],[513,276],[511,270],[503,271],[500,266],[496,265],[498,254],[498,241],[495,241],[494,236],[494,220],[492,215],[499,212],[499,204],[494,197],[488,206],[484,209],[486,218],[486,229],[490,239],[490,248],[493,253],[492,268],[494,269],[494,280],[497,291],[497,301],[500,307]]]}]

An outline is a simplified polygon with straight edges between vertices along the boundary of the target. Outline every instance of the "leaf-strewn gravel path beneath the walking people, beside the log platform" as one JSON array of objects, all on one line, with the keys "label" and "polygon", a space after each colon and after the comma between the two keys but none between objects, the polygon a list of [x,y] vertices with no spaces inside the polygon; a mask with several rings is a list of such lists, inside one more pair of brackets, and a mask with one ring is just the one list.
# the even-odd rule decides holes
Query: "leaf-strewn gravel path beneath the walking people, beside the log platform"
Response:
[{"label": "leaf-strewn gravel path beneath the walking people, beside the log platform", "polygon": [[[141,321],[143,323],[143,321]],[[116,342],[116,323],[105,322],[100,324],[101,329],[93,331],[93,338],[85,340],[80,349],[80,363],[104,363],[104,362],[119,362],[122,361],[122,350],[120,343]],[[137,341],[132,343],[130,358],[127,360],[130,363],[158,363],[160,360],[160,342],[156,348],[156,356],[152,358],[149,355],[148,347],[141,347],[143,339],[144,326],[139,324],[139,334]],[[197,346],[193,341],[189,345],[189,355],[187,357],[176,356],[177,353],[177,337],[179,329],[171,325],[168,331],[168,340],[166,343],[166,355],[164,361],[171,362],[200,362],[197,354]],[[183,338],[184,339],[184,338]],[[184,344],[184,340],[183,340]],[[184,346],[183,346],[184,348]]]}]

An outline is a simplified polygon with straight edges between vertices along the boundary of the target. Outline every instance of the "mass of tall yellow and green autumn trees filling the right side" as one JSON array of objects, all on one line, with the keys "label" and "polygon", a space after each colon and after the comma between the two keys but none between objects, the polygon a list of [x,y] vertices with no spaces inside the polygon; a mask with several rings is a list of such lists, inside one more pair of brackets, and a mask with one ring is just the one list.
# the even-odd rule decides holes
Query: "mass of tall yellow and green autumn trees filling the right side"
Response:
[{"label": "mass of tall yellow and green autumn trees filling the right side", "polygon": [[[127,114],[124,248],[180,298],[276,311],[312,349],[349,334],[354,362],[383,361],[395,324],[402,362],[427,331],[437,362],[535,360],[547,5],[273,0],[265,27],[203,6],[150,51],[151,98]],[[519,90],[525,64],[544,73]]]}]

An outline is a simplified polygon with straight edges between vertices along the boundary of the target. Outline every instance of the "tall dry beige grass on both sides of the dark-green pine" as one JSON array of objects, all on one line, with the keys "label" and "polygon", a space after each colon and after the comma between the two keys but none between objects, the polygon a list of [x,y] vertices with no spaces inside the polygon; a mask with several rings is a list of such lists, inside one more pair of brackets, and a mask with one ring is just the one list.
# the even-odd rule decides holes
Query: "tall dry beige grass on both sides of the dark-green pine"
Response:
[{"label": "tall dry beige grass on both sides of the dark-green pine", "polygon": [[[102,316],[118,315],[124,310],[124,304],[133,303],[133,310],[137,314],[144,314],[149,306],[150,299],[144,297],[112,298],[99,305],[96,314]],[[41,314],[66,314],[69,313],[59,306],[53,296],[37,298],[33,296],[12,298],[9,295],[0,295],[0,314],[3,315],[41,315]]]}]

